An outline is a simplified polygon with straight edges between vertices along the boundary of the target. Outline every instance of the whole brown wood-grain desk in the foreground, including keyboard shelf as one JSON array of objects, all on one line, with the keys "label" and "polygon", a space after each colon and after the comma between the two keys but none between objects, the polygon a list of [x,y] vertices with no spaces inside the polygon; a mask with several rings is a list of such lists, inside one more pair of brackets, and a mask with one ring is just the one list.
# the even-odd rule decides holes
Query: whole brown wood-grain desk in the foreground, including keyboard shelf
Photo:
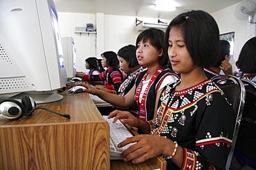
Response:
[{"label": "whole brown wood-grain desk in the foreground, including keyboard shelf", "polygon": [[0,169],[161,169],[159,158],[132,164],[109,160],[109,125],[87,93],[40,104],[20,120],[0,120]]}]

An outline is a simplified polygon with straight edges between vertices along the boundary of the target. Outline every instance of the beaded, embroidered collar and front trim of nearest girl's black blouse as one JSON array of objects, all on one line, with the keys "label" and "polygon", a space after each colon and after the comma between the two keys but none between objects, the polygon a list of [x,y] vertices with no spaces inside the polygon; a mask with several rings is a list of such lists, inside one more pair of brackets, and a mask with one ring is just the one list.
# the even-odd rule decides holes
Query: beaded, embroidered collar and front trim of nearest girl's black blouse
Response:
[{"label": "beaded, embroidered collar and front trim of nearest girl's black blouse", "polygon": [[[180,80],[174,81],[173,83],[167,85],[165,90],[161,95],[161,106],[158,108],[157,119],[156,122],[159,125],[158,128],[151,131],[152,135],[160,135],[162,134],[165,126],[169,122],[170,118],[172,118],[173,114],[181,112],[183,113],[185,109],[190,107],[194,107],[194,109],[190,112],[190,116],[193,116],[196,109],[198,108],[196,103],[205,98],[206,105],[210,105],[210,102],[213,100],[212,92],[221,92],[222,91],[212,83],[210,80],[203,81],[193,87],[188,89],[183,89],[181,91],[174,92],[174,87],[181,83]],[[204,87],[204,89],[203,89]],[[203,91],[201,91],[203,90]],[[192,98],[186,98],[185,95],[189,94]],[[174,97],[176,98],[174,99]],[[179,118],[178,122],[181,125],[185,125],[186,117],[182,114],[181,118]],[[176,138],[176,130],[172,129],[172,136]]]}]

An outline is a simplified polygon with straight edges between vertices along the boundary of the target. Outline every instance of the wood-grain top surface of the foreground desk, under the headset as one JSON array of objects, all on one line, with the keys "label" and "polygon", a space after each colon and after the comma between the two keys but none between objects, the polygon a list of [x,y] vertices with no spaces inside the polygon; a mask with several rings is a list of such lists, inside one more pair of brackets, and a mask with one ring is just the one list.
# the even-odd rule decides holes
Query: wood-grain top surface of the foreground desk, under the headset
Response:
[{"label": "wood-grain top surface of the foreground desk, under the headset", "polygon": [[[67,119],[50,111],[37,109],[32,116],[24,116],[20,120],[9,121],[0,120],[0,127],[3,125],[39,125],[42,123],[59,124],[59,123],[93,123],[104,122],[100,112],[92,102],[89,94],[63,94],[64,99],[54,103],[39,104],[60,114],[70,114],[71,118]],[[37,105],[37,106],[39,106]]]}]

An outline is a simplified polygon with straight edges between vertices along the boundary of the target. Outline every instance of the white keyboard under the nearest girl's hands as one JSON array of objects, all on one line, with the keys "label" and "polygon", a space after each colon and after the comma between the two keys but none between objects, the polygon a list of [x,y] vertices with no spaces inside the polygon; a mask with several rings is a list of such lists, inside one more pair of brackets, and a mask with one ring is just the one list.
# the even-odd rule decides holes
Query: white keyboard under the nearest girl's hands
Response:
[{"label": "white keyboard under the nearest girl's hands", "polygon": [[129,146],[134,145],[135,142],[125,145],[125,147],[122,148],[118,148],[118,144],[133,135],[128,131],[125,125],[120,122],[120,120],[117,120],[116,123],[113,123],[113,118],[107,117],[108,116],[103,116],[104,120],[109,123],[110,160],[122,160],[122,158],[120,158],[121,153],[125,151]]}]

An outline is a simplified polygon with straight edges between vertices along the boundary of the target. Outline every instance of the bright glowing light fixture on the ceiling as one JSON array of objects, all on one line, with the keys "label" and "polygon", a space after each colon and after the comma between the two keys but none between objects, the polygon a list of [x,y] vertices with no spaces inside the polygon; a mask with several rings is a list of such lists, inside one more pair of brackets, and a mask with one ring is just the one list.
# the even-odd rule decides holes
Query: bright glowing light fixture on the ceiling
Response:
[{"label": "bright glowing light fixture on the ceiling", "polygon": [[156,0],[154,7],[156,10],[175,11],[176,7],[179,6],[173,0]]}]

